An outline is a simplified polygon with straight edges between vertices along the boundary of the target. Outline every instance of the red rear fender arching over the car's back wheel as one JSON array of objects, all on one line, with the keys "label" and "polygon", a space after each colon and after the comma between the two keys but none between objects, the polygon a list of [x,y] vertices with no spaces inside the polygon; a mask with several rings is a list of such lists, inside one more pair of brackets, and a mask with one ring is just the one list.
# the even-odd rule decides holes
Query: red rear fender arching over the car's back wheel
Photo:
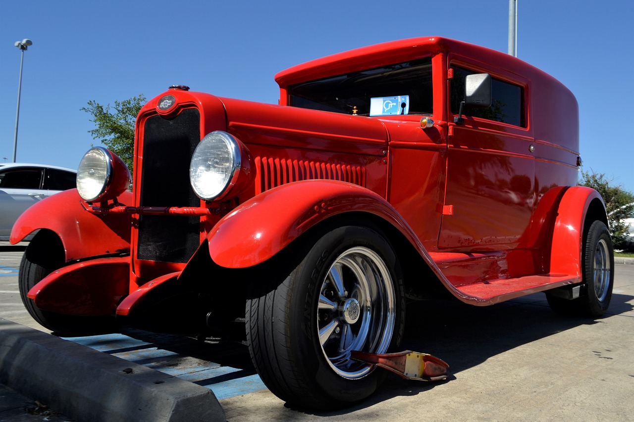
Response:
[{"label": "red rear fender arching over the car's back wheel", "polygon": [[581,278],[581,250],[586,215],[607,222],[605,204],[592,188],[568,188],[557,208],[550,249],[551,274],[571,274]]}]

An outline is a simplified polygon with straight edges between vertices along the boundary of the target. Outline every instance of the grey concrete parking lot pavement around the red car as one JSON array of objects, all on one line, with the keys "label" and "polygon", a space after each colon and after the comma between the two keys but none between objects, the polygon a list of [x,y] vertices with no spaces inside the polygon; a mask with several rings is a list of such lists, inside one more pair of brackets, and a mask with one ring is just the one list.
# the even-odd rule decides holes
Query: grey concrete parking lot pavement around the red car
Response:
[{"label": "grey concrete parking lot pavement around the red car", "polygon": [[[21,255],[0,244],[0,317],[48,333],[23,309],[17,293]],[[389,378],[370,399],[335,412],[293,409],[266,389],[219,402],[228,421],[631,421],[634,265],[616,264],[615,274],[611,307],[597,320],[557,316],[542,293],[492,307],[445,301],[411,304],[403,350],[427,352],[448,362],[446,381]],[[187,342],[173,336],[152,342],[160,350],[175,349],[179,343],[179,354],[189,351],[202,360],[214,360],[219,350],[214,344],[204,346],[205,353],[200,344],[188,349]],[[239,345],[235,359],[239,362],[234,366],[248,371],[248,354]],[[36,400],[0,388],[0,421],[49,418],[23,410],[37,408]],[[72,420],[51,416],[57,419],[47,420]]]}]

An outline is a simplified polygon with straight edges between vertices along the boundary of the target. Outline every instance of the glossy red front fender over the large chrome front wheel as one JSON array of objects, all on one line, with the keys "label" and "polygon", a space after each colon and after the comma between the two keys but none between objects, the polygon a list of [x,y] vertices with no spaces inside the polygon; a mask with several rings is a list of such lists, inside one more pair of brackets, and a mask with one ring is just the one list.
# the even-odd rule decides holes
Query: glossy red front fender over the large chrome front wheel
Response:
[{"label": "glossy red front fender over the large chrome front wheel", "polygon": [[347,182],[307,180],[254,196],[226,215],[207,236],[209,254],[227,268],[260,264],[319,222],[344,212],[377,215],[417,243],[398,212],[376,193]]}]

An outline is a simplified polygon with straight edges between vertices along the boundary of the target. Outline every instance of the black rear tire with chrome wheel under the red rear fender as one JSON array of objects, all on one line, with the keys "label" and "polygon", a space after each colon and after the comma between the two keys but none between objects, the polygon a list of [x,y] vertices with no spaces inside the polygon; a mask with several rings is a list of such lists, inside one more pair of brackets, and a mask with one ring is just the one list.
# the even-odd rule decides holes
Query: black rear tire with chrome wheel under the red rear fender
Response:
[{"label": "black rear tire with chrome wheel under the red rear fender", "polygon": [[574,300],[546,292],[550,308],[560,315],[597,318],[605,314],[614,286],[614,248],[610,232],[602,221],[590,225],[583,243],[582,294]]}]

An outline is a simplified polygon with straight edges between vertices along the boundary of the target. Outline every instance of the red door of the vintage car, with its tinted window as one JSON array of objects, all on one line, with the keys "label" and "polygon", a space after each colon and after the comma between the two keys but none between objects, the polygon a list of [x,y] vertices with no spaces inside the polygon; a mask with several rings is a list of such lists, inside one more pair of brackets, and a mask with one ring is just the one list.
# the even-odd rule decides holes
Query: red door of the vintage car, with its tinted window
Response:
[{"label": "red door of the vintage car, with its tinted window", "polygon": [[[465,108],[450,121],[439,248],[505,250],[528,240],[534,203],[533,137],[527,80],[452,61],[450,116],[457,116],[467,74],[492,76],[492,105]],[[509,80],[514,77],[514,80]]]}]

